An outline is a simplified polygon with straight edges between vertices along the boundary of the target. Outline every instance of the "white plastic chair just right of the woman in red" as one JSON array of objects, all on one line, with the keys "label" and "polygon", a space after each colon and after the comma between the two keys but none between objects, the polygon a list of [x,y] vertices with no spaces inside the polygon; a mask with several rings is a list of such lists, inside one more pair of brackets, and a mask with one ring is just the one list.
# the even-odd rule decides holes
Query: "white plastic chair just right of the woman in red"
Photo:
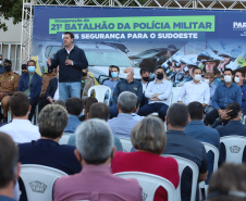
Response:
[{"label": "white plastic chair just right of the woman in red", "polygon": [[188,166],[192,172],[193,172],[193,184],[192,184],[192,194],[190,194],[190,201],[195,201],[196,200],[196,189],[197,189],[197,183],[198,183],[198,174],[199,174],[199,169],[196,163],[194,163],[190,160],[187,160],[185,158],[181,158],[181,156],[176,156],[176,155],[170,155],[170,154],[161,154],[161,156],[171,156],[174,158],[179,164],[179,173],[180,173],[180,184],[177,187],[177,192],[179,192],[179,201],[181,201],[181,178],[182,178],[182,174],[183,171],[186,166]]}]

